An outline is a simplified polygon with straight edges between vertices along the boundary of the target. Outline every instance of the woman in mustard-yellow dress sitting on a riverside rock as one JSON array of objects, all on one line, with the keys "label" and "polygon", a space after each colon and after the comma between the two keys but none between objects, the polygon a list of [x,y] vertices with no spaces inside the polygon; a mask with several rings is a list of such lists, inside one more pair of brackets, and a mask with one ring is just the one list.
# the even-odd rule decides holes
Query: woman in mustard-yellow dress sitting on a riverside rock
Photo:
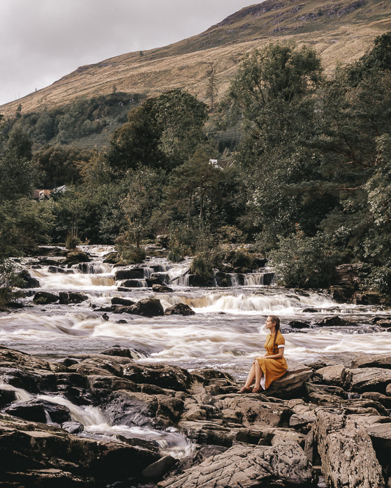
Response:
[{"label": "woman in mustard-yellow dress sitting on a riverside rock", "polygon": [[[283,357],[285,339],[280,332],[280,319],[275,315],[270,315],[266,319],[265,328],[270,330],[266,337],[266,354],[262,358],[256,358],[251,366],[246,384],[238,393],[260,393],[269,388],[272,381],[281,378],[288,369],[286,360]],[[256,380],[254,388],[251,384]]]}]

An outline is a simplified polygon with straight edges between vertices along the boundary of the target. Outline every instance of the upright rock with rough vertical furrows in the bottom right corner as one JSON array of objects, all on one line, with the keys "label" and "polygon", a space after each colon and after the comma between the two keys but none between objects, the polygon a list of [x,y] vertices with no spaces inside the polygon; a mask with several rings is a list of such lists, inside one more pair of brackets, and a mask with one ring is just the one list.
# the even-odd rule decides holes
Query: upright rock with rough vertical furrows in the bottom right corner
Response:
[{"label": "upright rock with rough vertical furrows in the bottom right corner", "polygon": [[332,411],[316,412],[318,452],[330,488],[383,488],[381,466],[364,427]]}]

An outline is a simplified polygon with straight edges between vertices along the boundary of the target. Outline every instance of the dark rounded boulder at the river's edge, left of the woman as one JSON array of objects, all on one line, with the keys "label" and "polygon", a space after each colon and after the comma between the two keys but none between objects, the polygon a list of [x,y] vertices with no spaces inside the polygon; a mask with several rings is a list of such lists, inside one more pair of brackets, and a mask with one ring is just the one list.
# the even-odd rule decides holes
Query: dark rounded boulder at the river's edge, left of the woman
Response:
[{"label": "dark rounded boulder at the river's edge, left of the woman", "polygon": [[165,364],[129,363],[124,367],[123,377],[135,383],[149,383],[175,391],[186,391],[193,381],[186,369]]}]

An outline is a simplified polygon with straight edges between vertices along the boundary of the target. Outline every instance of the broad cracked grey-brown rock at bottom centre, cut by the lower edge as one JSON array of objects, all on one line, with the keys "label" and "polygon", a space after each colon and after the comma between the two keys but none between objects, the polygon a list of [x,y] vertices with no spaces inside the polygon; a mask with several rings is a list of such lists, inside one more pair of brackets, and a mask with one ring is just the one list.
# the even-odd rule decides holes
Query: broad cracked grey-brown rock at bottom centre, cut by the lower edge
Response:
[{"label": "broad cracked grey-brown rock at bottom centre, cut by the lower edge", "polygon": [[304,451],[297,443],[234,445],[220,455],[205,459],[158,488],[309,486],[314,476]]}]

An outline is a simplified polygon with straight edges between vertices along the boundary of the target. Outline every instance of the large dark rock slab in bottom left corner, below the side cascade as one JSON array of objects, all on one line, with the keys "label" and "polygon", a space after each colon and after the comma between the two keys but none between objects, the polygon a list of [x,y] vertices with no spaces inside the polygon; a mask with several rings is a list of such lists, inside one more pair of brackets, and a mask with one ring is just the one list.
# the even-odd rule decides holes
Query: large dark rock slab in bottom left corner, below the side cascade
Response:
[{"label": "large dark rock slab in bottom left corner, below the side cascade", "polygon": [[[21,473],[31,470],[61,470],[84,481],[82,486],[99,486],[105,482],[125,481],[137,476],[159,459],[156,452],[100,439],[86,439],[64,432],[63,429],[17,420],[8,415],[0,419],[0,457],[2,480],[17,482]],[[129,462],[131,459],[132,462]],[[6,468],[6,469],[4,469]],[[30,484],[36,486],[40,478],[32,475]],[[14,484],[10,486],[14,486]],[[20,485],[15,485],[20,486]],[[64,486],[56,483],[37,486]]]}]

